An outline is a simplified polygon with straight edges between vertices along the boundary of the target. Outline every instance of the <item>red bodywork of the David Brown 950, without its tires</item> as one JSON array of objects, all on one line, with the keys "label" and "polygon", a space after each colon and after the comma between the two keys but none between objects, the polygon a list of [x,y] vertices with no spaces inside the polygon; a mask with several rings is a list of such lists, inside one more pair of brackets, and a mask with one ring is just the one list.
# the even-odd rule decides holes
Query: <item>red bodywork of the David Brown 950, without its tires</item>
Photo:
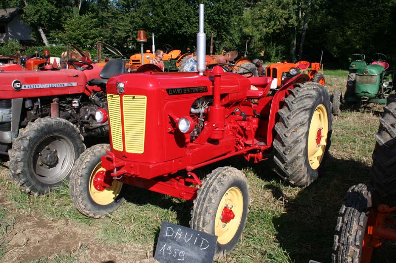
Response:
[{"label": "red bodywork of the David Brown 950, without its tires", "polygon": [[[111,77],[107,82],[111,151],[101,158],[102,167],[106,170],[105,178],[98,173],[95,179],[98,177],[98,182],[107,182],[108,185],[106,178],[110,178],[192,200],[198,190],[194,185],[201,184],[193,172],[198,167],[234,155],[244,155],[247,160],[255,162],[265,159],[263,152],[272,147],[277,112],[283,98],[294,83],[308,79],[307,75],[298,75],[272,97],[266,96],[271,77],[246,78],[224,73],[220,66],[204,75],[152,73]],[[117,83],[124,83],[121,95],[117,93],[120,91]],[[251,85],[255,89],[251,89]],[[137,120],[140,124],[143,122],[142,128],[145,128],[142,153],[125,150],[126,142],[135,140],[129,138],[125,130],[131,127],[129,122],[136,117],[130,113],[131,106],[124,108],[125,96],[147,98],[145,117]],[[213,103],[203,113],[201,132],[192,138],[190,133],[182,133],[177,125],[182,117],[198,119],[190,112],[198,98],[212,98]],[[117,102],[114,105],[120,107],[114,110],[122,116],[120,119],[112,116],[110,100],[113,99]],[[113,133],[115,128],[120,132]],[[114,134],[117,138],[113,137]],[[115,148],[123,150],[116,150],[114,142],[119,143]],[[187,176],[175,175],[184,169]],[[102,189],[106,185],[97,184],[95,188]]]}]

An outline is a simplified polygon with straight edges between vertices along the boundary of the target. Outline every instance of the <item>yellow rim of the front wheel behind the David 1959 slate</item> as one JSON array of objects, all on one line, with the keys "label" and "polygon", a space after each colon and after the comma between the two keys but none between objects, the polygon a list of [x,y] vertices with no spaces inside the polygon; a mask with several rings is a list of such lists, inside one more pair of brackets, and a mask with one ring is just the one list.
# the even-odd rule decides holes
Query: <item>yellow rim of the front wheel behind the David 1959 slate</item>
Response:
[{"label": "yellow rim of the front wheel behind the David 1959 slate", "polygon": [[[221,214],[224,207],[231,209],[235,215],[234,219],[231,219],[229,223],[223,223],[221,221]],[[214,221],[214,234],[217,235],[217,242],[224,245],[231,241],[241,224],[243,212],[244,197],[241,190],[236,187],[229,188],[221,198]]]}]

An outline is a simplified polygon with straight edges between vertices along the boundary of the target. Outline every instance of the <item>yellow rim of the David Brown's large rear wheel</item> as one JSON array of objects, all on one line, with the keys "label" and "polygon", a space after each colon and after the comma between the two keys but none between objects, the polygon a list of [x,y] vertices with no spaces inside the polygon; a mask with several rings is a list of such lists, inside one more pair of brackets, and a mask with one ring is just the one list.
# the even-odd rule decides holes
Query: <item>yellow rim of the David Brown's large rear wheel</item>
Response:
[{"label": "yellow rim of the David Brown's large rear wheel", "polygon": [[326,107],[319,104],[312,115],[308,134],[308,160],[314,170],[318,169],[325,153],[328,124]]}]

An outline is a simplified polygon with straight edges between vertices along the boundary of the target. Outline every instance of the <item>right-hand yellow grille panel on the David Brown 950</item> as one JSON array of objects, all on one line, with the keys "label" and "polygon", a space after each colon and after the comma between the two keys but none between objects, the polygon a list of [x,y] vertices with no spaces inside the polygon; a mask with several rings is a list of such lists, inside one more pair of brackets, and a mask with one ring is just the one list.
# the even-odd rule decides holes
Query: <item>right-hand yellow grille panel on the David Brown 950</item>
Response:
[{"label": "right-hand yellow grille panel on the David Brown 950", "polygon": [[125,95],[122,100],[125,150],[131,153],[143,153],[145,150],[147,97]]}]

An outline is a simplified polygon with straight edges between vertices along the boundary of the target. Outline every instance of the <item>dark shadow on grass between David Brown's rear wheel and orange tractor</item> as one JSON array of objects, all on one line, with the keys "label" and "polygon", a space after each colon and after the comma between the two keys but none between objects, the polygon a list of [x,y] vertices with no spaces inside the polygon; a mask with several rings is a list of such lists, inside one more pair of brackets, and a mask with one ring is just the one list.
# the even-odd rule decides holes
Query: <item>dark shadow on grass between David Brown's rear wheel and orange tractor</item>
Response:
[{"label": "dark shadow on grass between David Brown's rear wheel and orange tractor", "polygon": [[[369,183],[370,167],[360,162],[329,157],[324,174],[288,200],[286,213],[273,218],[280,246],[296,263],[331,262],[338,211],[348,188]],[[269,186],[276,198],[286,198],[280,188]],[[393,246],[395,248],[395,246]],[[392,251],[392,248],[386,251]],[[373,262],[394,262],[396,252],[380,254]],[[375,256],[375,255],[374,255]]]}]

